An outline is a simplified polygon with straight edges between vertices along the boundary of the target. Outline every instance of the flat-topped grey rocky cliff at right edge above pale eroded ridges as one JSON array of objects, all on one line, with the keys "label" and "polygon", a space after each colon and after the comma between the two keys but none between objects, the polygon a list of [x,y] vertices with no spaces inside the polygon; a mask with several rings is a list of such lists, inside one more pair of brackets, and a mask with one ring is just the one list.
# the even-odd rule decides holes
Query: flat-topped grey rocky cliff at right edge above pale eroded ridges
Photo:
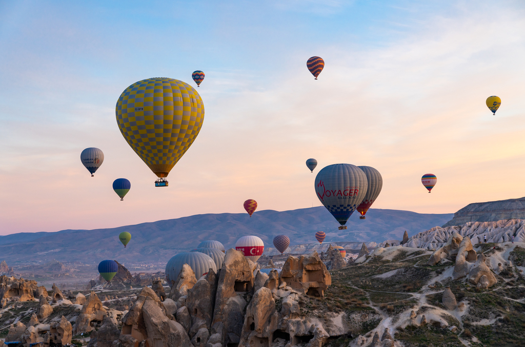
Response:
[{"label": "flat-topped grey rocky cliff at right edge above pale eroded ridges", "polygon": [[501,219],[525,219],[525,197],[469,204],[456,212],[454,218],[443,227],[467,222],[497,222]]}]

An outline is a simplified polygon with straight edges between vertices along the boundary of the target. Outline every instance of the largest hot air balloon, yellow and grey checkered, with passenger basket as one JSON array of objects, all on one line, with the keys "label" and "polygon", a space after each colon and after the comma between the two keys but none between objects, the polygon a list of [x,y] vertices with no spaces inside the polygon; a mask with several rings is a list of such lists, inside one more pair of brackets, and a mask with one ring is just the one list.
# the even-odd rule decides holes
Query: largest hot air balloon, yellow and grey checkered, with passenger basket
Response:
[{"label": "largest hot air balloon, yellow and grey checkered, with passenger basket", "polygon": [[197,91],[171,78],[133,83],[120,94],[117,124],[133,151],[167,186],[166,177],[201,131],[204,104]]}]

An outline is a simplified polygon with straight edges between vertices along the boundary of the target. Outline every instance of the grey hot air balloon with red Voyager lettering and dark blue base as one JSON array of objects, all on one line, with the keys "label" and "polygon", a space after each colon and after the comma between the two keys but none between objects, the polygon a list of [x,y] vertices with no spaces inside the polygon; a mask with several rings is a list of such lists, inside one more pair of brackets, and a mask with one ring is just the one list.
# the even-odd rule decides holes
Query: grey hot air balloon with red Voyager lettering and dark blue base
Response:
[{"label": "grey hot air balloon with red Voyager lettering and dark blue base", "polygon": [[351,164],[332,164],[323,167],[314,182],[319,201],[346,229],[346,221],[363,201],[368,181],[359,167]]}]

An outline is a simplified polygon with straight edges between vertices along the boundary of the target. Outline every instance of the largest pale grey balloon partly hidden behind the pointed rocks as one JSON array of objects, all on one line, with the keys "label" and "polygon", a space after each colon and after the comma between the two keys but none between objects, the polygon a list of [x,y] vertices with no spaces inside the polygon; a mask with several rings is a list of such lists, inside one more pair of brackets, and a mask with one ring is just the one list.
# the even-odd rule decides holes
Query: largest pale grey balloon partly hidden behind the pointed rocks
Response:
[{"label": "largest pale grey balloon partly hidden behind the pointed rocks", "polygon": [[209,269],[217,272],[215,261],[207,254],[200,252],[182,252],[174,255],[166,264],[165,274],[168,283],[172,283],[177,279],[184,264],[192,268],[193,272],[195,272],[195,278],[201,278],[203,275],[206,275]]}]

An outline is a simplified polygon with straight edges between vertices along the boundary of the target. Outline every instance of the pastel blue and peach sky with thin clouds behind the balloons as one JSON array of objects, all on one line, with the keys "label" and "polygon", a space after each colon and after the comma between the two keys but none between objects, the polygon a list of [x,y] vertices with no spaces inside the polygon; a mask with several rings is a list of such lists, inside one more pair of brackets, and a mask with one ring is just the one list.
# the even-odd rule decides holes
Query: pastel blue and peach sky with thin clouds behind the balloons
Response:
[{"label": "pastel blue and peach sky with thin clouds behind the balloons", "polygon": [[[318,80],[311,56],[325,62]],[[156,188],[115,105],[150,77],[196,87],[194,70],[204,124]],[[248,198],[321,206],[313,181],[334,163],[380,171],[373,208],[522,197],[524,81],[520,0],[0,0],[0,235],[241,213]],[[95,177],[80,162],[88,147],[104,152]]]}]

